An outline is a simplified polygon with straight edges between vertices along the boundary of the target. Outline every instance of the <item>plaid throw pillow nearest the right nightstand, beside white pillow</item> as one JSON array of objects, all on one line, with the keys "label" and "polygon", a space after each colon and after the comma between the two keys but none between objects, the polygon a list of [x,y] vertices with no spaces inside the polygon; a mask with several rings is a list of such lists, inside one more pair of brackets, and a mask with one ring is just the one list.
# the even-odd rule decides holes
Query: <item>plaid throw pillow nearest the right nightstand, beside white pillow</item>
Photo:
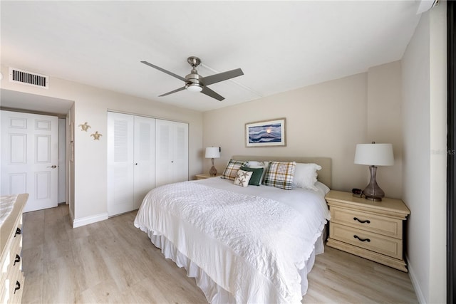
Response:
[{"label": "plaid throw pillow nearest the right nightstand, beside white pillow", "polygon": [[269,162],[264,175],[263,184],[266,186],[291,190],[293,188],[296,162]]}]

